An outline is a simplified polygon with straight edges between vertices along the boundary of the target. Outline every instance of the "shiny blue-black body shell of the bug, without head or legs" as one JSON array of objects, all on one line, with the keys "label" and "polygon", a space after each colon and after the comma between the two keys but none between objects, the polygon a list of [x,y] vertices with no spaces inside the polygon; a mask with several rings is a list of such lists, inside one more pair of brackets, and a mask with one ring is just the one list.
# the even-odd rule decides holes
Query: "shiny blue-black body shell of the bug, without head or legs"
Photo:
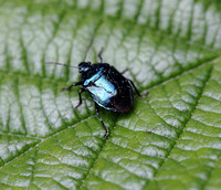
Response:
[{"label": "shiny blue-black body shell of the bug, without head or legs", "polygon": [[130,110],[134,102],[131,85],[108,63],[92,64],[82,72],[82,82],[101,107],[117,113]]}]

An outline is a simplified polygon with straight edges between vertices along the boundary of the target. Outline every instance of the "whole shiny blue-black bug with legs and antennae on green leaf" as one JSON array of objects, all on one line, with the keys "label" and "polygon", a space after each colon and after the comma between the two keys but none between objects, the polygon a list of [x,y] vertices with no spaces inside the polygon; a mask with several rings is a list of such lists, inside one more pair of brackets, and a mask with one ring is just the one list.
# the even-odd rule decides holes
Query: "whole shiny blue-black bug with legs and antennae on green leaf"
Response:
[{"label": "whole shiny blue-black bug with legs and antennae on green leaf", "polygon": [[[105,129],[103,138],[106,139],[108,128],[105,126],[99,115],[98,106],[115,113],[127,113],[131,109],[134,103],[133,87],[139,97],[144,97],[147,94],[141,96],[133,81],[123,76],[127,70],[120,73],[108,63],[103,63],[102,51],[98,54],[99,63],[91,64],[91,62],[82,62],[78,64],[78,72],[82,74],[82,81],[73,83],[69,87],[61,89],[71,91],[73,86],[82,86],[78,91],[80,102],[75,108],[82,104],[83,92],[88,92],[91,94],[95,103],[96,115]],[[71,66],[55,62],[45,63]]]}]

